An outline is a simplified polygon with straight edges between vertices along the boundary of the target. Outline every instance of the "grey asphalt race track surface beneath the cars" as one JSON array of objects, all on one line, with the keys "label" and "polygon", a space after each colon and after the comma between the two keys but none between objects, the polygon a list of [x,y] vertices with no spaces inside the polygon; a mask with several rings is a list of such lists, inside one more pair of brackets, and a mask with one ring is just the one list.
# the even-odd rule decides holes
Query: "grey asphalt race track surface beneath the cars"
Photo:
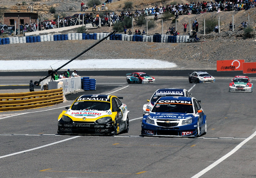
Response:
[{"label": "grey asphalt race track surface beneath the cars", "polygon": [[[75,95],[55,106],[2,112],[0,177],[255,177],[256,93],[228,92],[232,77],[189,84],[187,76],[157,75],[155,84],[127,84],[124,76],[95,76],[93,94],[123,96],[130,110],[129,132],[115,137],[57,135],[57,117]],[[256,77],[251,80],[254,83]],[[140,135],[143,104],[156,89],[167,87],[186,88],[201,100],[207,115],[206,135],[194,139]]]}]

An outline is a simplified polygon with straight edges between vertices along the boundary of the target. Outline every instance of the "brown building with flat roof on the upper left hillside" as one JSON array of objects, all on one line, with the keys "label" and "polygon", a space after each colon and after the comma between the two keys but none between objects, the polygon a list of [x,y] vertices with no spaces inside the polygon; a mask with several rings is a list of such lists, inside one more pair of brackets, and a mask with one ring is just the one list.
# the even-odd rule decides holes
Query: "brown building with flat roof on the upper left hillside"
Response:
[{"label": "brown building with flat roof on the upper left hillside", "polygon": [[38,23],[38,13],[31,12],[4,12],[3,22],[7,26],[15,26],[19,28],[19,24],[25,25],[26,23]]}]

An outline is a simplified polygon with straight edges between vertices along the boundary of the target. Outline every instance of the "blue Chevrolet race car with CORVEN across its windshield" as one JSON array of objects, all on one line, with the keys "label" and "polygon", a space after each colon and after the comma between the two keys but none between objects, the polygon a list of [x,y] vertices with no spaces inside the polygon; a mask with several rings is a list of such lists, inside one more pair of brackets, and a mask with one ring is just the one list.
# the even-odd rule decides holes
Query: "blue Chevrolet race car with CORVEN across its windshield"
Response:
[{"label": "blue Chevrolet race car with CORVEN across its windshield", "polygon": [[146,136],[199,137],[206,134],[206,115],[195,98],[163,96],[142,119]]}]

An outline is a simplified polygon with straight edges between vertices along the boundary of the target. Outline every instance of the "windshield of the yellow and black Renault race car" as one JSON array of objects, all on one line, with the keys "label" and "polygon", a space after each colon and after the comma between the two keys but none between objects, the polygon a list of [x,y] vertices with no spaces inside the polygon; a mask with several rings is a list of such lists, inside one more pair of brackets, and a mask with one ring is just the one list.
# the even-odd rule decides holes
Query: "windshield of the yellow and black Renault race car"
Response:
[{"label": "windshield of the yellow and black Renault race car", "polygon": [[75,102],[71,110],[98,110],[98,111],[107,111],[110,109],[109,102],[102,101],[77,101]]}]

